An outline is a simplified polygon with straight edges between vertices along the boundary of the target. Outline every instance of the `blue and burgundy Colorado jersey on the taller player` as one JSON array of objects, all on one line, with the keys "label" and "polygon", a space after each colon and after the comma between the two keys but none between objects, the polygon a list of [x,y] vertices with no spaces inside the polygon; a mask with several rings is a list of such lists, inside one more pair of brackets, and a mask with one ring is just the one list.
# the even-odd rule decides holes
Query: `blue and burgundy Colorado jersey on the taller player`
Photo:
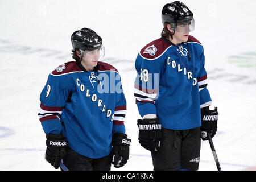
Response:
[{"label": "blue and burgundy Colorado jersey on the taller player", "polygon": [[156,114],[162,127],[201,126],[200,108],[211,104],[204,49],[193,36],[174,45],[166,38],[147,44],[135,61],[134,96],[141,117]]}]

